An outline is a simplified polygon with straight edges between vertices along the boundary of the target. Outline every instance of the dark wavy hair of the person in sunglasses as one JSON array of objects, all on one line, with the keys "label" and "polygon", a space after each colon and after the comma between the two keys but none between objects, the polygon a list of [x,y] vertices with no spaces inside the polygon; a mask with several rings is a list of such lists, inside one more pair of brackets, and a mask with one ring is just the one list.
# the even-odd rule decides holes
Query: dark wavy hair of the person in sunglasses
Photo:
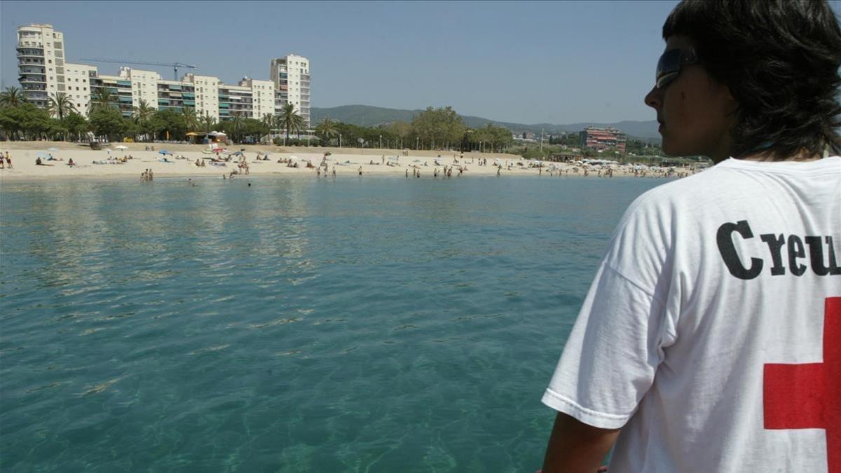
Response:
[{"label": "dark wavy hair of the person in sunglasses", "polygon": [[734,157],[841,154],[841,28],[825,0],[684,0],[663,25],[674,35],[739,104]]}]

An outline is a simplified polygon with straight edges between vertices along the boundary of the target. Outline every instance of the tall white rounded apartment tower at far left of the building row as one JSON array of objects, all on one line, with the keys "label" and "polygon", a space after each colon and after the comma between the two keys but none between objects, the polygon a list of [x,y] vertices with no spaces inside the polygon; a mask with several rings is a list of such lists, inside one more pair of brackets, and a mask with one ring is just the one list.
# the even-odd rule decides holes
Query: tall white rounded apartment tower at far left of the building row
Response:
[{"label": "tall white rounded apartment tower at far left of the building row", "polygon": [[18,75],[24,97],[45,107],[48,97],[65,92],[64,35],[51,24],[18,28]]}]

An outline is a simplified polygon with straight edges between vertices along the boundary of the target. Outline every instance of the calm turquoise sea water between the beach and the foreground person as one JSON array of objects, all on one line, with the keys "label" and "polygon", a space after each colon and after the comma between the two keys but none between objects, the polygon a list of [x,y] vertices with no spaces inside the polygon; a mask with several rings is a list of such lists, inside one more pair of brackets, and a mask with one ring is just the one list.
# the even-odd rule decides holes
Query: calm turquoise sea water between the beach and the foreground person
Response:
[{"label": "calm turquoise sea water between the beach and the foreground person", "polygon": [[3,183],[0,470],[534,471],[607,238],[663,181],[197,183]]}]

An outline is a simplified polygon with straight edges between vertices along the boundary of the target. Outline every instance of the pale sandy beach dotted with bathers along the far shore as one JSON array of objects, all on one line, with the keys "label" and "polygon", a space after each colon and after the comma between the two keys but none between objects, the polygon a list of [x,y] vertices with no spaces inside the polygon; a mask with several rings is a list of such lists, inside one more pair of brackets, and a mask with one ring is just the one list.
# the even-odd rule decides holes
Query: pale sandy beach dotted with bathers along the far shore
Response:
[{"label": "pale sandy beach dotted with bathers along the far shore", "polygon": [[[116,149],[125,146],[125,149]],[[154,146],[155,151],[147,151],[147,146]],[[458,151],[403,151],[392,149],[358,149],[336,147],[278,147],[254,145],[230,145],[220,157],[225,158],[236,151],[242,151],[244,160],[248,164],[248,173],[238,164],[243,157],[232,156],[229,162],[213,163],[210,155],[202,152],[206,145],[173,145],[166,143],[112,143],[102,150],[92,150],[89,146],[81,146],[64,141],[4,141],[0,143],[0,152],[5,155],[8,151],[12,158],[13,168],[0,169],[0,179],[38,179],[38,178],[137,178],[146,169],[151,169],[156,178],[167,177],[218,177],[230,176],[235,171],[237,178],[248,176],[304,176],[316,175],[316,169],[307,167],[307,162],[319,166],[325,152],[328,173],[336,170],[336,177],[358,176],[360,167],[362,176],[405,176],[408,171],[410,178],[415,176],[415,169],[421,178],[433,178],[438,173],[440,177],[444,167],[452,167],[452,177],[458,176],[459,167],[463,168],[461,177],[495,176],[498,167],[500,176],[536,176],[558,171],[575,175],[579,169],[574,165],[564,163],[543,163],[543,169],[532,166],[527,160],[510,154],[466,152],[463,158]],[[166,150],[171,154],[162,155]],[[257,153],[268,153],[268,160],[257,160]],[[404,153],[407,152],[408,156]],[[36,165],[39,154],[43,165]],[[43,157],[53,157],[46,160]],[[131,157],[125,162],[120,158]],[[109,159],[112,158],[112,159]],[[70,166],[70,160],[75,163]],[[204,167],[196,166],[197,160],[204,161]],[[299,167],[289,167],[288,161],[298,162]],[[480,160],[486,160],[487,165],[480,165]],[[278,162],[281,161],[281,162]],[[390,165],[389,165],[390,163]],[[579,175],[583,175],[583,169]],[[324,168],[321,168],[324,173]],[[627,174],[628,169],[619,167],[615,175]],[[591,170],[590,176],[597,175]]]}]

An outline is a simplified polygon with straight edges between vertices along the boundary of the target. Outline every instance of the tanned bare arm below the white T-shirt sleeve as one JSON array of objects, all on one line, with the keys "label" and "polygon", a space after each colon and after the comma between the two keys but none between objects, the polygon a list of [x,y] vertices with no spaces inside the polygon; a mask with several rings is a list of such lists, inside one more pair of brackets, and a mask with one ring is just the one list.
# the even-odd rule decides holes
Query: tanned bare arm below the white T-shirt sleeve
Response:
[{"label": "tanned bare arm below the white T-shirt sleeve", "polygon": [[543,473],[594,473],[619,429],[596,428],[558,412],[543,459]]}]

